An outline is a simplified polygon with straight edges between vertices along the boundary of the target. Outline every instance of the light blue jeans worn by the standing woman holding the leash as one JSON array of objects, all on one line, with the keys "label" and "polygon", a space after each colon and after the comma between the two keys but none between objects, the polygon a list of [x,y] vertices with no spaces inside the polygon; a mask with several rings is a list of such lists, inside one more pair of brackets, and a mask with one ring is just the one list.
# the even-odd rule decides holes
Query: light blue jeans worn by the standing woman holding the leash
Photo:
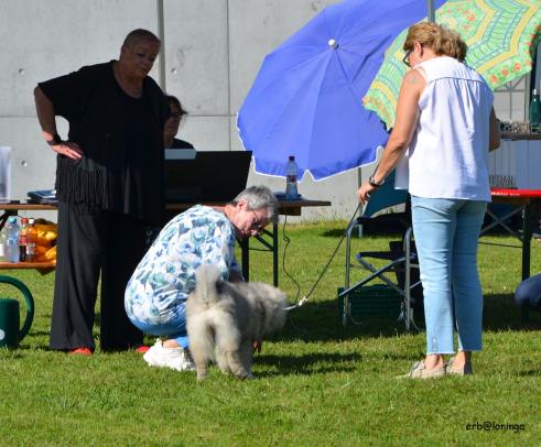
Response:
[{"label": "light blue jeans worn by the standing woman holding the leash", "polygon": [[412,197],[412,219],[421,270],[426,353],[482,349],[483,292],[477,246],[487,203]]}]

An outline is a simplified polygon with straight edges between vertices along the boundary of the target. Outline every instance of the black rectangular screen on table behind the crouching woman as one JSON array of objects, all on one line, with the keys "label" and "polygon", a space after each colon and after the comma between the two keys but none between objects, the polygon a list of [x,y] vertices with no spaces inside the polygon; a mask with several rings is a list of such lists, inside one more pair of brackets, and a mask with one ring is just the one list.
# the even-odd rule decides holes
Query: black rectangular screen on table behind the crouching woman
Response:
[{"label": "black rectangular screen on table behind the crouching woman", "polygon": [[165,200],[169,204],[229,201],[246,188],[250,151],[198,151],[195,157],[187,153],[180,157],[169,151],[174,150],[165,150]]}]

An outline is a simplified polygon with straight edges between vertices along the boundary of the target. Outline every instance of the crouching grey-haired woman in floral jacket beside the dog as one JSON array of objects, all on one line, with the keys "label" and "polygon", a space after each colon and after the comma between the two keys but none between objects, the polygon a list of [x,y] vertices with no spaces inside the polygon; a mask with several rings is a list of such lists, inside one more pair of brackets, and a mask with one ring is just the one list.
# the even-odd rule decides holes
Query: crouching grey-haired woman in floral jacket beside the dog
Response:
[{"label": "crouching grey-haired woman in floral jacket beside the dog", "polygon": [[251,186],[224,207],[196,205],[173,218],[137,266],[126,288],[126,312],[134,326],[160,336],[143,356],[149,366],[192,369],[185,302],[195,272],[215,264],[221,277],[242,281],[235,240],[259,232],[277,217],[277,199],[264,186]]}]

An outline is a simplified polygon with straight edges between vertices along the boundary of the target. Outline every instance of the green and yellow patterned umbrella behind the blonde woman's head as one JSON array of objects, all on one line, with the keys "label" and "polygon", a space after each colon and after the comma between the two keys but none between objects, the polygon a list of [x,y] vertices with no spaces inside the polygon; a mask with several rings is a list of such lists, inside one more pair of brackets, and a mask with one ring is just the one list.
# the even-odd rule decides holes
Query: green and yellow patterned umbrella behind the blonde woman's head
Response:
[{"label": "green and yellow patterned umbrella behind the blonde woman's head", "polygon": [[[457,31],[468,45],[466,63],[490,88],[529,73],[541,40],[541,0],[448,0],[436,11],[436,23]],[[390,129],[407,67],[402,63],[404,30],[386,52],[363,103]]]}]

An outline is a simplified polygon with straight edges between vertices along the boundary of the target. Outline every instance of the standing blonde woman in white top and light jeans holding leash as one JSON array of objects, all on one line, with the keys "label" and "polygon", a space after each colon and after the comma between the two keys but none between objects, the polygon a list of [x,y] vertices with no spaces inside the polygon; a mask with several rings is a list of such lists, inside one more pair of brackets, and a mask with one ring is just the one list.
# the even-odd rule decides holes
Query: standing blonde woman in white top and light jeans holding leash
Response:
[{"label": "standing blonde woman in white top and light jeans holding leash", "polygon": [[[469,374],[472,351],[482,349],[477,240],[490,201],[488,151],[499,146],[494,97],[464,64],[467,47],[456,32],[419,23],[409,29],[403,50],[412,69],[400,88],[394,128],[358,196],[368,200],[397,165],[396,183],[412,196],[426,357],[408,377]],[[443,356],[455,352],[455,329],[458,353],[445,366]]]}]

